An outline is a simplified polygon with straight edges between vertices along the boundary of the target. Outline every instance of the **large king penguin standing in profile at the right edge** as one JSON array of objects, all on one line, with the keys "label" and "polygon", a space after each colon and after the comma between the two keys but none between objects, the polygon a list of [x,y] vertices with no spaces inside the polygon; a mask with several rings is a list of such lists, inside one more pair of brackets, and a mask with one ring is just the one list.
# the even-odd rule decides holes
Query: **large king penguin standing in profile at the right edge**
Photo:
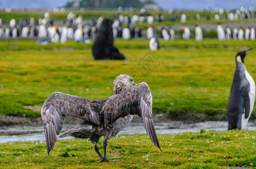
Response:
[{"label": "large king penguin standing in profile at the right edge", "polygon": [[236,54],[236,70],[228,101],[228,130],[244,130],[247,127],[255,101],[255,82],[247,72],[244,59],[252,50],[239,51]]}]

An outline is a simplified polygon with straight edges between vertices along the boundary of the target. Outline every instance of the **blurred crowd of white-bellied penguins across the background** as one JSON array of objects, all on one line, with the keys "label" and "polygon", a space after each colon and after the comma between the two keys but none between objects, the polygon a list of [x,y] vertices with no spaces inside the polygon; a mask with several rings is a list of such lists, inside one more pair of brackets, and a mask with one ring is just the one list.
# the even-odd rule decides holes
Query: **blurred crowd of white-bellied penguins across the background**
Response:
[{"label": "blurred crowd of white-bellied penguins across the background", "polygon": [[[65,10],[54,10],[54,11],[63,11]],[[11,9],[8,9],[6,12],[11,12]],[[169,14],[174,14],[174,10],[170,9]],[[214,19],[227,19],[227,20],[240,20],[240,19],[250,19],[254,18],[255,10],[253,8],[243,8],[228,11],[223,10],[223,8],[219,8],[216,10],[206,9],[206,12],[214,12],[216,13]],[[186,23],[189,16],[186,14],[181,14],[177,17],[174,15],[170,16],[170,18],[163,16],[161,14],[152,16],[146,10],[142,9],[140,11],[140,15],[130,15],[123,16],[119,15],[113,21],[113,37],[114,38],[148,38],[159,37],[163,38],[165,41],[169,39],[172,40],[174,38],[179,38],[179,35],[175,35],[174,29],[167,26],[162,26],[159,30],[159,34],[157,29],[150,26],[152,23],[161,22],[169,20],[170,23],[180,20],[181,23]],[[196,20],[200,20],[200,15],[195,15]],[[207,17],[210,19],[210,17]],[[29,17],[28,19],[20,19],[19,22],[15,21],[15,19],[11,19],[10,23],[3,24],[0,19],[0,38],[40,38],[39,43],[44,42],[52,42],[52,43],[65,43],[67,40],[73,40],[75,42],[84,42],[90,43],[91,39],[96,37],[97,29],[100,28],[100,24],[103,21],[103,17],[99,17],[99,19],[91,18],[89,20],[83,20],[81,15],[76,16],[72,12],[67,15],[67,19],[62,23],[58,23],[50,19],[49,12],[46,12],[44,18],[39,18],[38,20],[34,20],[33,17]],[[135,26],[136,23],[147,23],[147,28],[142,28],[140,26]],[[127,26],[123,26],[127,25]],[[248,26],[246,28],[221,28],[221,25],[217,26],[217,37],[220,41],[224,41],[226,39],[251,39],[255,40],[255,28],[253,26]],[[203,34],[202,29],[199,25],[182,27],[183,34],[181,35],[184,39],[189,39],[190,34],[193,33],[195,35],[196,41],[202,41]],[[195,29],[195,31],[190,32],[191,29]],[[222,30],[223,29],[223,30]],[[177,32],[178,28],[176,28]],[[177,33],[176,33],[177,34]]]}]

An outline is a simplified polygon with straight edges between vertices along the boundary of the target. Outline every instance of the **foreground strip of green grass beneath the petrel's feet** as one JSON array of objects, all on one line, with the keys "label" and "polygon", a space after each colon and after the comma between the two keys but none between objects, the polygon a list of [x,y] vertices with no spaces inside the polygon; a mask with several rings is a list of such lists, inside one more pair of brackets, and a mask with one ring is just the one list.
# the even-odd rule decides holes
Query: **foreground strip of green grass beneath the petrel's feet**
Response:
[{"label": "foreground strip of green grass beneath the petrel's feet", "polygon": [[[0,144],[0,168],[221,168],[256,167],[256,131],[209,131],[158,135],[160,152],[147,135],[118,135],[109,140],[108,157],[99,163],[86,140],[58,140],[47,156],[45,141]],[[103,139],[99,141],[103,152]]]}]

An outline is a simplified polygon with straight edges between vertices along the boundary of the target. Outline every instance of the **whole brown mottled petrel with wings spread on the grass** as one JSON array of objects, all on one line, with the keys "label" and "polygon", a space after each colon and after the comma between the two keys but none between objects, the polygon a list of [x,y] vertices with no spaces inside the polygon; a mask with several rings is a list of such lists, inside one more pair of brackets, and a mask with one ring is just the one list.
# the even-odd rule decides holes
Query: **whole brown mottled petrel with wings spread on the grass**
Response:
[{"label": "whole brown mottled petrel with wings spread on the grass", "polygon": [[[95,151],[100,155],[101,161],[109,161],[106,157],[108,140],[123,130],[134,114],[142,117],[152,143],[160,149],[152,118],[152,95],[147,83],[135,84],[130,75],[121,74],[114,80],[114,95],[106,100],[92,101],[54,92],[41,110],[48,155],[57,142],[66,115],[69,115],[83,119],[84,122],[59,137],[71,135],[89,139],[95,144]],[[101,136],[105,137],[104,156],[97,146]]]}]

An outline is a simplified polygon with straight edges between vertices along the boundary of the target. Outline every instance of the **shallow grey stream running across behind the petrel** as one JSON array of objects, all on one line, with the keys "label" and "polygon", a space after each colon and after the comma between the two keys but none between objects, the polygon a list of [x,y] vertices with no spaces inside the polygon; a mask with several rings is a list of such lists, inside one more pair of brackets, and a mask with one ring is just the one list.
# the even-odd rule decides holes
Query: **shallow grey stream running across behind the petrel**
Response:
[{"label": "shallow grey stream running across behind the petrel", "polygon": [[[79,123],[76,119],[66,119],[62,131],[67,131]],[[199,132],[202,128],[206,131],[224,131],[227,130],[228,122],[211,121],[200,123],[184,123],[181,121],[168,121],[167,119],[156,118],[155,128],[157,134],[177,134],[182,132]],[[248,130],[256,130],[256,123],[249,122]],[[143,123],[140,118],[135,117],[134,121],[130,123],[119,134],[146,134]],[[74,137],[66,137],[65,139],[72,139]],[[45,140],[44,127],[41,122],[11,125],[0,127],[0,143],[8,141],[36,141]]]}]

